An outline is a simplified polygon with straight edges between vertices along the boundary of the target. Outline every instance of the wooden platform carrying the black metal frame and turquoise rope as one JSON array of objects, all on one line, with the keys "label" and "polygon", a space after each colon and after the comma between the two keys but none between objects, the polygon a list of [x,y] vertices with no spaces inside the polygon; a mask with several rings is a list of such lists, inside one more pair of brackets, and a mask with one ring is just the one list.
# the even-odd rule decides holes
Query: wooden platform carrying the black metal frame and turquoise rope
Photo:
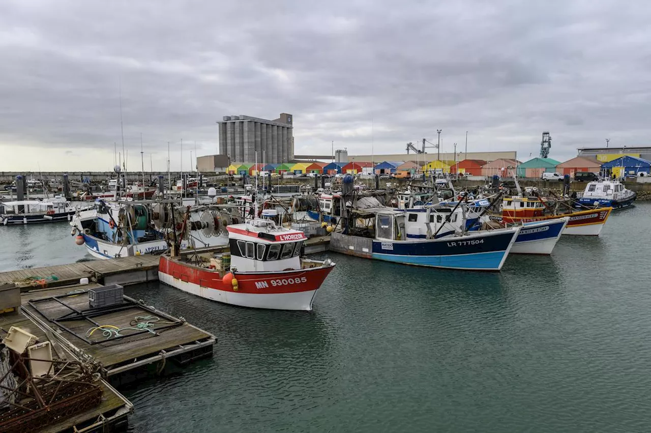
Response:
[{"label": "wooden platform carrying the black metal frame and turquoise rope", "polygon": [[[107,335],[102,329],[92,331],[97,325],[87,318],[77,315],[74,320],[57,320],[66,314],[88,311],[87,290],[96,286],[99,285],[77,285],[26,293],[22,295],[22,309],[39,326],[52,331],[55,338],[74,354],[83,353],[100,362],[105,377],[154,363],[158,363],[162,369],[166,359],[186,363],[212,356],[216,342],[214,335],[163,311],[146,307],[128,296],[124,297],[125,303],[120,309],[98,311],[93,313],[95,315],[90,320],[96,324],[112,326],[113,329],[123,329],[137,328],[138,325],[133,322],[137,316],[158,317],[158,321],[150,321],[152,332],[145,329],[124,329],[119,331],[120,335],[124,335],[123,338],[111,337],[107,341]],[[74,292],[80,289],[86,291]],[[57,296],[57,299],[53,296]],[[89,336],[90,331],[92,335]]]}]

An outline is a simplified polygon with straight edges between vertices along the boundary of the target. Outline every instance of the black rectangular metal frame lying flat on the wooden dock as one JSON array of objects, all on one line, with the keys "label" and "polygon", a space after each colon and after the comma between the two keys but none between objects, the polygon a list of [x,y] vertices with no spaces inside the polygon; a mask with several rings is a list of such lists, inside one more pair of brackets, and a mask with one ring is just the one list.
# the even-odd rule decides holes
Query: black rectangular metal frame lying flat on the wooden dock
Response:
[{"label": "black rectangular metal frame lying flat on the wooden dock", "polygon": [[[59,326],[59,328],[64,329],[65,331],[68,331],[69,333],[71,333],[75,337],[83,340],[84,342],[86,342],[87,344],[90,344],[90,345],[92,345],[92,344],[100,344],[100,343],[107,342],[107,341],[115,341],[115,340],[123,339],[123,338],[126,338],[126,337],[133,337],[134,335],[139,335],[139,334],[142,334],[142,333],[152,333],[153,332],[155,335],[159,335],[158,332],[156,332],[156,331],[158,331],[160,329],[173,328],[174,326],[180,326],[180,325],[184,324],[184,321],[179,320],[178,318],[175,318],[173,316],[170,316],[167,313],[163,313],[163,312],[158,311],[156,309],[152,309],[152,308],[148,307],[147,305],[144,305],[143,303],[138,303],[137,301],[133,300],[132,298],[129,298],[128,296],[123,297],[127,301],[126,303],[119,303],[119,304],[115,304],[115,305],[107,305],[106,307],[91,308],[91,309],[87,309],[87,310],[77,310],[76,308],[71,307],[70,305],[68,305],[67,303],[65,303],[61,299],[59,299],[59,298],[68,298],[70,296],[79,296],[80,294],[85,294],[87,292],[88,292],[88,290],[83,290],[83,292],[73,292],[73,293],[68,293],[68,294],[64,294],[64,295],[49,296],[48,298],[39,298],[37,300],[29,300],[29,301],[27,301],[27,303],[29,303],[29,305],[33,309],[35,309],[38,314],[40,314],[43,317],[47,318],[50,322],[52,322],[52,323],[56,324],[57,326]],[[63,305],[64,307],[72,310],[72,313],[64,314],[63,316],[61,316],[59,318],[49,318],[47,316],[47,314],[45,314],[43,311],[38,309],[38,307],[36,307],[36,303],[38,303],[38,302],[51,301],[51,300],[55,300],[55,301],[59,302],[61,305]],[[170,320],[171,322],[174,322],[174,323],[173,324],[165,324],[164,326],[160,326],[159,328],[156,328],[156,329],[145,329],[145,328],[143,328],[141,331],[135,331],[135,332],[130,333],[128,335],[116,335],[115,337],[109,337],[109,338],[104,339],[104,340],[91,340],[88,337],[86,337],[86,335],[79,335],[79,333],[77,333],[76,331],[73,331],[72,329],[68,328],[67,326],[65,326],[64,324],[61,323],[61,322],[66,322],[66,321],[70,321],[70,320],[88,320],[94,326],[100,327],[101,325],[98,324],[98,322],[95,322],[94,320],[92,320],[92,317],[101,316],[102,314],[118,313],[119,311],[125,311],[125,310],[128,310],[128,309],[132,309],[133,307],[143,309],[145,311],[148,311],[149,313],[157,314],[158,316],[163,316],[163,318],[165,318],[167,320]]]}]

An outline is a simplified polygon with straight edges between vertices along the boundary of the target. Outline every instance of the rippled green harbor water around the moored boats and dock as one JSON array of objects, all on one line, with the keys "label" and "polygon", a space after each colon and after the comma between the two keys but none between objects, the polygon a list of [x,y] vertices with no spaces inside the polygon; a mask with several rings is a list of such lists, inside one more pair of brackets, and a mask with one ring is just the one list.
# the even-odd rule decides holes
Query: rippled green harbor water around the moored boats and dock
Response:
[{"label": "rippled green harbor water around the moored boats and dock", "polygon": [[[212,359],[121,391],[132,432],[651,431],[651,204],[500,273],[331,254],[314,311],[125,293],[214,333]],[[0,227],[1,270],[87,259],[66,224]]]}]

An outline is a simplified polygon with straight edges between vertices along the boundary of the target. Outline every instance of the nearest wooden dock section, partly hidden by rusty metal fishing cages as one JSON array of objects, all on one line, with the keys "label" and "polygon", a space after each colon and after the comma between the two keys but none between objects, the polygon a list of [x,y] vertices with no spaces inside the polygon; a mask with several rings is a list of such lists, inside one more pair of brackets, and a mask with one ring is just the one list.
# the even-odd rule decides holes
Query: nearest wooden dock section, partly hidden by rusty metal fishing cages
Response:
[{"label": "nearest wooden dock section, partly hidden by rusty metal fishing cages", "polygon": [[[0,316],[0,335],[4,336],[12,326],[22,328],[38,337],[39,342],[49,341],[52,344],[53,356],[55,352],[59,357],[74,359],[70,352],[53,342],[43,329],[36,326],[35,322],[29,320],[23,314],[10,314]],[[133,405],[111,385],[100,380],[102,388],[102,402],[99,406],[77,413],[70,417],[64,417],[59,423],[48,425],[39,430],[42,433],[58,433],[75,430],[77,432],[104,431],[105,426],[115,426],[126,423],[127,417],[133,412]]]}]

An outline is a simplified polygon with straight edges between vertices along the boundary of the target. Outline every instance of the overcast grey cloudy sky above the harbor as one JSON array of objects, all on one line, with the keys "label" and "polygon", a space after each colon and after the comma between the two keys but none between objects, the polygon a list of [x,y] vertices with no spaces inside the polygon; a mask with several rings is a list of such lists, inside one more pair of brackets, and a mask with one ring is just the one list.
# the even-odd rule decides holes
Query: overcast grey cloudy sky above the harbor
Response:
[{"label": "overcast grey cloudy sky above the harbor", "polygon": [[[0,171],[189,169],[216,120],[294,115],[296,153],[443,150],[558,160],[648,145],[651,3],[0,2]],[[150,156],[151,155],[151,156]]]}]

